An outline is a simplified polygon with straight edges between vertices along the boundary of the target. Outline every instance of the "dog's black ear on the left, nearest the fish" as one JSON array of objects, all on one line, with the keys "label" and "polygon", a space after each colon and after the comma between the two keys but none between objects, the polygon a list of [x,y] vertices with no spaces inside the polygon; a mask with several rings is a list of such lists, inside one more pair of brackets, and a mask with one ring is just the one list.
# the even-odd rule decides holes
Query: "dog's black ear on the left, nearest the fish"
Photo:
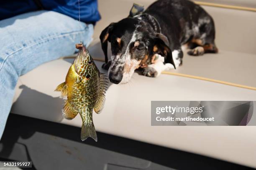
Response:
[{"label": "dog's black ear on the left, nearest the fish", "polygon": [[101,42],[101,48],[105,55],[105,62],[108,62],[108,41],[111,34],[111,31],[114,28],[115,23],[111,23],[106,27],[100,34],[100,42]]}]

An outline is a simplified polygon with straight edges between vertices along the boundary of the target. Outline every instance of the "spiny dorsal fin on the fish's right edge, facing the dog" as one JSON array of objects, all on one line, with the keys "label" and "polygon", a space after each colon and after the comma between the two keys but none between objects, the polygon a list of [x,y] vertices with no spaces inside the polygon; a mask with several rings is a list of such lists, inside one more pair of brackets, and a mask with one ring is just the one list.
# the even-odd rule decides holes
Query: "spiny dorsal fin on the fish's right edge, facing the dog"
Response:
[{"label": "spiny dorsal fin on the fish's right edge, facing the dog", "polygon": [[102,111],[103,107],[104,107],[104,103],[105,103],[105,93],[106,90],[108,88],[108,77],[103,74],[100,73],[100,91],[99,91],[99,97],[96,100],[96,103],[94,105],[94,111],[97,114],[100,114],[100,112]]}]

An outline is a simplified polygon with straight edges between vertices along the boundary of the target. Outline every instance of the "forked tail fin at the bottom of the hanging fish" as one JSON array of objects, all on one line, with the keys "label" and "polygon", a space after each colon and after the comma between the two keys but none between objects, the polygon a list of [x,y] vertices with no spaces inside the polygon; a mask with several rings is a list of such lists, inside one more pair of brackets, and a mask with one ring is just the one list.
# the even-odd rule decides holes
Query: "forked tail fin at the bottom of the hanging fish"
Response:
[{"label": "forked tail fin at the bottom of the hanging fish", "polygon": [[94,139],[97,142],[97,134],[96,134],[96,130],[95,127],[93,125],[93,123],[91,125],[82,125],[82,130],[81,130],[81,140],[84,141],[86,140],[88,137],[91,137],[92,139]]}]

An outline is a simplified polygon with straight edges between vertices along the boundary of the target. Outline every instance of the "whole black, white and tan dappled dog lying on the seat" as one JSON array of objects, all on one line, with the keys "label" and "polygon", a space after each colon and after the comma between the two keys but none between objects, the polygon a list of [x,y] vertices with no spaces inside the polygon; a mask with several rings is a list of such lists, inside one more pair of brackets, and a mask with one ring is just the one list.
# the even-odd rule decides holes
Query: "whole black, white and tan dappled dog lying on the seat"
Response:
[{"label": "whole black, white and tan dappled dog lying on the seat", "polygon": [[[110,82],[126,83],[134,70],[156,77],[182,65],[182,45],[189,55],[217,53],[215,26],[202,7],[189,0],[158,0],[142,14],[111,23],[100,35]],[[111,60],[108,60],[108,42]]]}]

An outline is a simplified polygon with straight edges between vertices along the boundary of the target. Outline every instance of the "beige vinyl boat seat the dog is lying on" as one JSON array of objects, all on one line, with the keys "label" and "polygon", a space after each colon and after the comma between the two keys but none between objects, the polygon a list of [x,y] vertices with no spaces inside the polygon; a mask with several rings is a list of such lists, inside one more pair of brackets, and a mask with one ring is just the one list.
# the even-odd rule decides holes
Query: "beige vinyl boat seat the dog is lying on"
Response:
[{"label": "beige vinyl boat seat the dog is lying on", "polygon": [[[153,1],[99,0],[102,20],[95,26],[94,41],[89,47],[92,57],[104,59],[98,38],[101,30],[111,22],[125,18],[133,2],[147,7]],[[256,7],[253,0],[218,0],[218,3]],[[219,54],[185,55],[183,66],[170,72],[256,87],[256,13],[203,7],[215,20]],[[59,92],[54,92],[64,81],[72,61],[73,58],[54,60],[21,76],[11,112],[80,127],[79,116],[74,120],[62,118],[64,102],[59,98]],[[96,61],[96,64],[101,68],[103,62]],[[167,74],[150,78],[135,73],[127,84],[110,85],[105,107],[100,115],[94,114],[94,122],[96,130],[103,133],[256,168],[255,126],[151,126],[151,100],[256,100],[255,90]]]}]

